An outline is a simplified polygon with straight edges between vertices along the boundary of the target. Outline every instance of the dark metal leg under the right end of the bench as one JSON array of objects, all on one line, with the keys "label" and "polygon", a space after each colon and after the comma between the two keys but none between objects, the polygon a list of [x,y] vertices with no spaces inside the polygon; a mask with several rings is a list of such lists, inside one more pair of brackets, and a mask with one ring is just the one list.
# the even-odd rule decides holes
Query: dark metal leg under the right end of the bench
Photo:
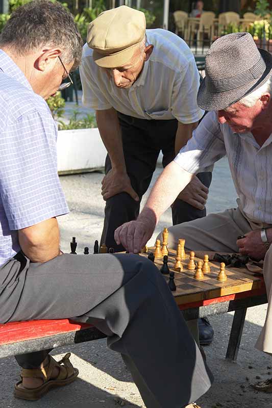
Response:
[{"label": "dark metal leg under the right end of the bench", "polygon": [[236,310],[233,317],[226,359],[236,361],[243,333],[247,308]]}]

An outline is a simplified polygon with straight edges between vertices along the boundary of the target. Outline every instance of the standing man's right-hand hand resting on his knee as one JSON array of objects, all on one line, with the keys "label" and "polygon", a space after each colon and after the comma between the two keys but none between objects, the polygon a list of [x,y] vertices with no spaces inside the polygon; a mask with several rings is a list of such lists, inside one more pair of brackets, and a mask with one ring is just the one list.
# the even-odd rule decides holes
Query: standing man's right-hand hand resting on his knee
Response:
[{"label": "standing man's right-hand hand resting on his knee", "polygon": [[178,198],[199,210],[204,210],[208,193],[209,189],[197,177],[193,177]]}]

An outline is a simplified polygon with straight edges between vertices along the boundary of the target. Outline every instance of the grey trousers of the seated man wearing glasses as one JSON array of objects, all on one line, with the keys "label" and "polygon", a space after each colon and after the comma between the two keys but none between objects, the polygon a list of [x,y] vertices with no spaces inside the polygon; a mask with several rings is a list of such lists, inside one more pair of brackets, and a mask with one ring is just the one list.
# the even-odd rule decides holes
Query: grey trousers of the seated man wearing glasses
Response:
[{"label": "grey trousers of the seated man wearing glasses", "polygon": [[12,259],[0,271],[1,323],[73,318],[94,324],[121,353],[147,408],[181,408],[210,388],[212,375],[151,261],[64,254],[43,264]]}]

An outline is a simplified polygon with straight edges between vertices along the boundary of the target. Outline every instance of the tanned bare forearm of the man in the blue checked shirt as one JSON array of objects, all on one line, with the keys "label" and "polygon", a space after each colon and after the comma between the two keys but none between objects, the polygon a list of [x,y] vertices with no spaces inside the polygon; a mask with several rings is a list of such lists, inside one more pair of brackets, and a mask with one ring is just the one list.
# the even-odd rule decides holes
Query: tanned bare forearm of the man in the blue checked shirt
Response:
[{"label": "tanned bare forearm of the man in the blue checked shirt", "polygon": [[61,254],[58,221],[51,218],[18,231],[21,250],[32,262],[46,262]]}]

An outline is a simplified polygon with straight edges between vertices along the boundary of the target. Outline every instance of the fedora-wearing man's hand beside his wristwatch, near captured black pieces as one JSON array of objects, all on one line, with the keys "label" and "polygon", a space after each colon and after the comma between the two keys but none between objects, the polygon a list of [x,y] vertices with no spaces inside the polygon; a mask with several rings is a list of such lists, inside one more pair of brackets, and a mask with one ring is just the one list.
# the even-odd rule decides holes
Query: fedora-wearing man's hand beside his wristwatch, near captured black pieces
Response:
[{"label": "fedora-wearing man's hand beside his wristwatch, near captured black pieces", "polygon": [[250,258],[256,259],[256,261],[264,259],[266,248],[261,240],[260,230],[245,234],[245,238],[238,239],[236,243],[239,247],[239,253],[242,255],[248,255]]}]

